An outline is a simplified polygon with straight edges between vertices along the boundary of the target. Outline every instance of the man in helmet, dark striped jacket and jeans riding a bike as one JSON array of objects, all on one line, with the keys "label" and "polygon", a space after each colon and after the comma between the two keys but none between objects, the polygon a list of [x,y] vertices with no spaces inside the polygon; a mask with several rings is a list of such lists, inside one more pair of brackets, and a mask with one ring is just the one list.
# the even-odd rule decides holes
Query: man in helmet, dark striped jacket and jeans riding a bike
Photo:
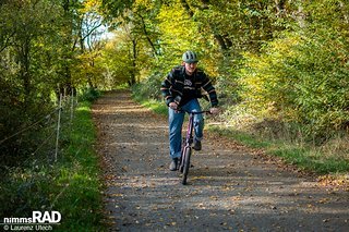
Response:
[{"label": "man in helmet, dark striped jacket and jeans riding a bike", "polygon": [[[185,51],[182,56],[182,65],[176,66],[161,83],[161,93],[169,107],[169,141],[170,141],[170,170],[178,169],[182,146],[182,125],[185,112],[202,111],[197,98],[202,97],[202,89],[208,96],[212,108],[210,113],[218,112],[218,99],[208,76],[197,69],[197,56],[193,51]],[[178,110],[181,111],[178,111]],[[203,139],[204,118],[202,114],[194,117],[194,146],[201,150]]]}]

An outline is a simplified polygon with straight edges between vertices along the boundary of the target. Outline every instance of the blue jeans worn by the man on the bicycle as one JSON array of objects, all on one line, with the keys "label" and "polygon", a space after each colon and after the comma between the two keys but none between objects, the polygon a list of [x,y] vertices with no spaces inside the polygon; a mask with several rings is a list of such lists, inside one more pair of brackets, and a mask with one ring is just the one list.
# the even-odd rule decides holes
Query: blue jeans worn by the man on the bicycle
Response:
[{"label": "blue jeans worn by the man on the bicycle", "polygon": [[[176,112],[171,108],[168,108],[168,122],[169,122],[169,139],[170,139],[170,157],[180,158],[181,147],[182,147],[182,125],[184,121],[185,112],[201,111],[197,99],[192,99],[188,103],[181,107],[181,110],[185,112]],[[204,131],[204,117],[203,114],[194,115],[194,132],[195,141],[201,141],[203,138]]]}]

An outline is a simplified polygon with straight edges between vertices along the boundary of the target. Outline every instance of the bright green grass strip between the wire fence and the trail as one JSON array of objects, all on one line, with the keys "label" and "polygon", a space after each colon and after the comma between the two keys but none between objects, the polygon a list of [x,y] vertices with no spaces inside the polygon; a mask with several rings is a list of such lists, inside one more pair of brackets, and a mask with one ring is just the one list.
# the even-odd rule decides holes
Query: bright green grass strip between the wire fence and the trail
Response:
[{"label": "bright green grass strip between the wire fence and the trail", "polygon": [[91,103],[80,103],[75,112],[70,144],[57,170],[60,187],[55,207],[62,215],[61,231],[100,231],[103,200],[99,160],[94,151],[96,133],[91,117]]}]

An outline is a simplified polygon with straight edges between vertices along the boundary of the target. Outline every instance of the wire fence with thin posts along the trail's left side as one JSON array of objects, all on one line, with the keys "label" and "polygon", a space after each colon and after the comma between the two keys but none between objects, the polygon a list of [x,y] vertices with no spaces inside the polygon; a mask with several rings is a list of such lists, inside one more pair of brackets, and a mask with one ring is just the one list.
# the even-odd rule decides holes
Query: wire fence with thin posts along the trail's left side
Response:
[{"label": "wire fence with thin posts along the trail's left side", "polygon": [[[17,155],[25,162],[29,160],[38,162],[44,159],[56,162],[59,158],[60,145],[64,143],[67,133],[72,129],[76,106],[77,93],[73,88],[70,95],[60,94],[57,107],[51,112],[0,138],[2,158],[8,156],[13,159]],[[2,163],[2,166],[7,164]]]}]

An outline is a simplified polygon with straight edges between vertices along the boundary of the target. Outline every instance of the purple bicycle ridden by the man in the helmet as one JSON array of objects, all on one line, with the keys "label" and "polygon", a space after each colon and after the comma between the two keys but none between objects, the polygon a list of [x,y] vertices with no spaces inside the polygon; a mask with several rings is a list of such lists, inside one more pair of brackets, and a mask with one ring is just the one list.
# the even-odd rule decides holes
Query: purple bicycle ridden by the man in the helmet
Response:
[{"label": "purple bicycle ridden by the man in the helmet", "polygon": [[[179,111],[179,112],[183,112],[183,111]],[[185,137],[183,137],[181,158],[180,158],[180,164],[179,164],[179,171],[181,173],[183,173],[183,176],[182,176],[182,184],[183,185],[186,184],[186,179],[188,179],[188,173],[189,173],[189,168],[190,168],[190,158],[192,155],[192,144],[194,141],[193,139],[194,115],[201,114],[201,113],[210,114],[210,111],[205,110],[205,111],[189,113],[189,123],[188,123],[188,129],[186,129],[186,135],[185,135]]]}]

